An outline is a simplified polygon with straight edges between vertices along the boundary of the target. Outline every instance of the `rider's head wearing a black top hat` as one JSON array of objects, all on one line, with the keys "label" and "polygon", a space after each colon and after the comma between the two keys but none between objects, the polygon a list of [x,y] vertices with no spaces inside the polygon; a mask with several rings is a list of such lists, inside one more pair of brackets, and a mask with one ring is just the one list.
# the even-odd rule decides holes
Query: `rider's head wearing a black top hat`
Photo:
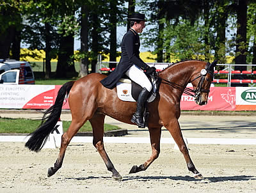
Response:
[{"label": "rider's head wearing a black top hat", "polygon": [[143,28],[145,27],[145,14],[142,13],[132,13],[131,17],[128,18],[130,20],[130,26],[137,33],[141,33]]}]

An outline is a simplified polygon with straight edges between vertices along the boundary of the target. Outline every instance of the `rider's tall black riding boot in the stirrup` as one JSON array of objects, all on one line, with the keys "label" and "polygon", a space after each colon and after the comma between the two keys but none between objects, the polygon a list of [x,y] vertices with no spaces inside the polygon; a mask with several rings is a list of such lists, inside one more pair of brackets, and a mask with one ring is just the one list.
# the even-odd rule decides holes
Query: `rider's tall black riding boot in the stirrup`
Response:
[{"label": "rider's tall black riding boot in the stirrup", "polygon": [[140,95],[138,96],[138,102],[137,102],[137,110],[132,115],[132,123],[136,123],[138,127],[144,128],[144,121],[143,121],[143,112],[145,107],[145,102],[147,101],[149,92],[146,88],[143,88],[140,92]]}]

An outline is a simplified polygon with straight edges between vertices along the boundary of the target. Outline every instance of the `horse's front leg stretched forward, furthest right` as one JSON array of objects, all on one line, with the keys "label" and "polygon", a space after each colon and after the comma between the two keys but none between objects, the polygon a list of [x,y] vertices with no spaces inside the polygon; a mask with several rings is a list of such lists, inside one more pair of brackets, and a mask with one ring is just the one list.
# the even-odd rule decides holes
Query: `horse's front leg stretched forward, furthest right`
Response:
[{"label": "horse's front leg stretched forward, furthest right", "polygon": [[187,148],[187,146],[184,142],[184,139],[182,137],[179,121],[177,119],[173,118],[173,120],[171,120],[168,124],[164,125],[164,127],[166,127],[168,129],[168,131],[172,134],[172,137],[173,137],[175,143],[177,144],[177,146],[179,146],[181,153],[183,153],[183,155],[184,155],[184,158],[186,160],[189,171],[191,171],[194,174],[194,178],[196,178],[196,179],[204,178],[202,176],[202,174],[200,174],[196,170],[195,165],[193,164],[193,162],[189,156],[188,148]]}]

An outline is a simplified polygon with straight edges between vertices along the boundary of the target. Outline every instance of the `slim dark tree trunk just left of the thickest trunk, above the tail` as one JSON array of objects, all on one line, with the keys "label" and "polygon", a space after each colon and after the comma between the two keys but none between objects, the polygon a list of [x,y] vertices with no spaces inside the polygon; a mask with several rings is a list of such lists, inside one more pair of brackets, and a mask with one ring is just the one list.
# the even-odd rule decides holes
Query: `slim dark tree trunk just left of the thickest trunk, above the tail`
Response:
[{"label": "slim dark tree trunk just left of the thickest trunk, above the tail", "polygon": [[51,35],[50,24],[45,23],[45,79],[51,78]]}]

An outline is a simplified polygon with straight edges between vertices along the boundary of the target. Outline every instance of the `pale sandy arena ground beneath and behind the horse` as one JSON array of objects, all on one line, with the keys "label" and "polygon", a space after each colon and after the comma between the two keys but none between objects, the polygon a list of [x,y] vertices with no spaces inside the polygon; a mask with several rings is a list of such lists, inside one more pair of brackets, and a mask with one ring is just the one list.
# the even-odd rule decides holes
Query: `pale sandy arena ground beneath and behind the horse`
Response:
[{"label": "pale sandy arena ground beneath and behind the horse", "polygon": [[[185,137],[256,140],[252,116],[182,116],[180,125]],[[148,136],[147,129],[125,127],[129,133],[125,137]],[[162,137],[170,134],[163,130]],[[188,144],[204,180],[193,178],[173,144],[161,144],[159,158],[147,171],[136,174],[129,171],[150,157],[150,144],[106,143],[105,148],[122,181],[111,178],[90,143],[71,143],[63,167],[51,178],[47,178],[47,169],[53,166],[58,149],[35,153],[24,148],[24,143],[0,143],[0,192],[256,192],[255,145]]]}]

